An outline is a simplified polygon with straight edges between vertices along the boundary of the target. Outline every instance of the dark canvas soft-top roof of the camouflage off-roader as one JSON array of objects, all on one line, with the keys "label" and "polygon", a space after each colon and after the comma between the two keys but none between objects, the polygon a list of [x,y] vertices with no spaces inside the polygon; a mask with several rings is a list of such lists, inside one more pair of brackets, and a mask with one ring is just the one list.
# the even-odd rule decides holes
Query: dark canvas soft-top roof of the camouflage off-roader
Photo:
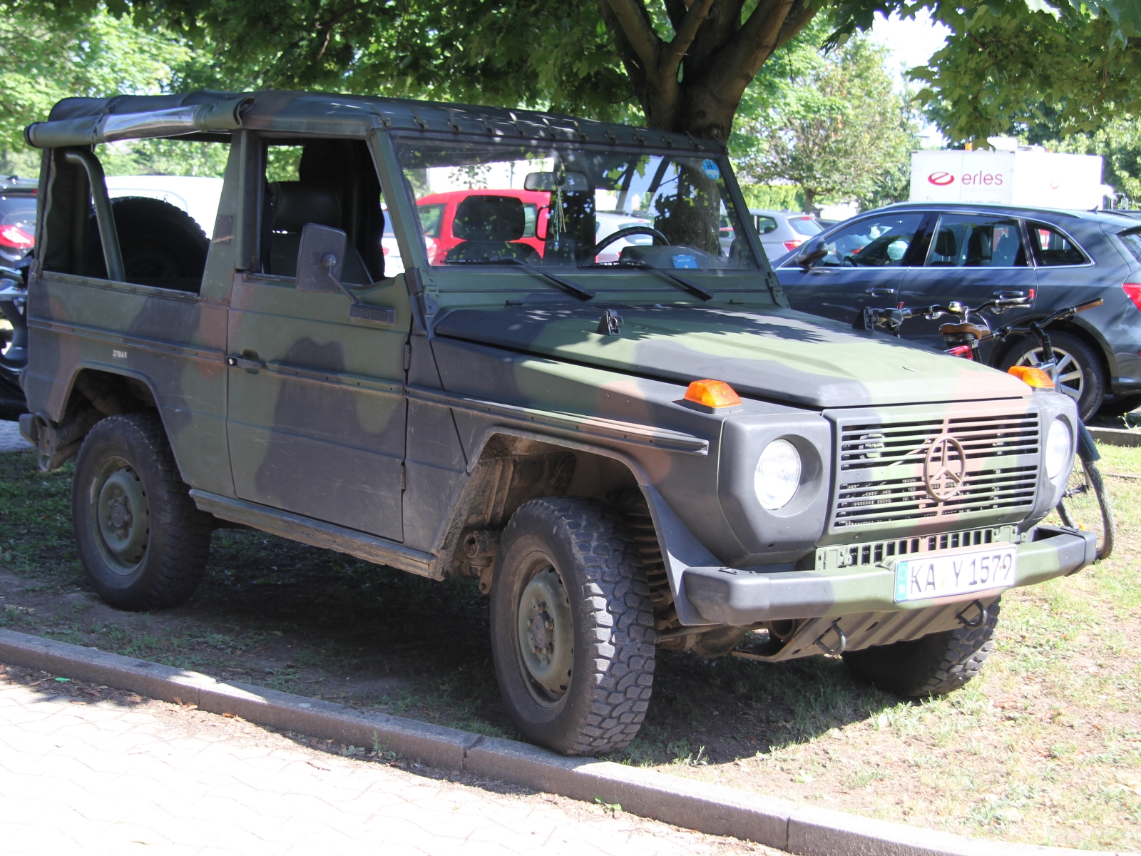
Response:
[{"label": "dark canvas soft-top roof of the camouflage off-roader", "polygon": [[226,134],[237,128],[294,134],[364,136],[374,129],[464,134],[504,139],[592,142],[720,154],[720,143],[688,134],[528,110],[372,98],[331,92],[197,91],[184,95],[120,95],[64,98],[46,122],[24,130],[37,148],[90,146],[116,139]]}]

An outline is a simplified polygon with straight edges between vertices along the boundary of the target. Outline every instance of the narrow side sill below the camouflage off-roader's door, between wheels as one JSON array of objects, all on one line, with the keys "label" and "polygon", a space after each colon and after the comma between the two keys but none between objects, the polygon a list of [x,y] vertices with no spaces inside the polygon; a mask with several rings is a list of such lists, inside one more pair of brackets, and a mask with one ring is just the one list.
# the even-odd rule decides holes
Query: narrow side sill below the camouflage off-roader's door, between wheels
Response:
[{"label": "narrow side sill below the camouflage off-roader's door, between wheels", "polygon": [[356,556],[365,562],[389,565],[432,580],[444,579],[443,563],[439,563],[430,552],[414,550],[388,539],[315,520],[311,517],[259,506],[256,502],[219,496],[217,493],[192,490],[191,496],[194,498],[200,510],[224,520],[244,523],[272,535],[281,535],[304,544],[347,552],[349,556]]}]

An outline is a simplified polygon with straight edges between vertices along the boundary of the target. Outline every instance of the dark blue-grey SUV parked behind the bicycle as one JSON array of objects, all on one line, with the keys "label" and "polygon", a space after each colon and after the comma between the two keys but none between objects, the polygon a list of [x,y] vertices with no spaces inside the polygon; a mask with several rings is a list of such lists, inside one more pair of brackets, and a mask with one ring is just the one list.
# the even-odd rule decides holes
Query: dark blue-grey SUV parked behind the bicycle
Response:
[{"label": "dark blue-grey SUV parked behind the bicycle", "polygon": [[[820,252],[824,252],[822,256]],[[1104,305],[1052,329],[1061,385],[1084,418],[1141,405],[1141,224],[1108,211],[1010,205],[889,205],[806,242],[777,267],[796,309],[852,323],[864,307],[978,306],[1025,297],[1027,308],[993,326],[1045,317],[1102,298]],[[942,348],[940,321],[914,318],[904,336]],[[992,365],[1033,365],[1038,345],[985,352]]]}]

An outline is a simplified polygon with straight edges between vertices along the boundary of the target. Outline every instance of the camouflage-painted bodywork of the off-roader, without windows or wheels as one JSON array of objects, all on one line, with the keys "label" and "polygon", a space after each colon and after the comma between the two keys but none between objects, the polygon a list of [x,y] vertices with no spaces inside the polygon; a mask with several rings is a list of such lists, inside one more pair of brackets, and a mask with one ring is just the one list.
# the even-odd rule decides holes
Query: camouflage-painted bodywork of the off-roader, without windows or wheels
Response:
[{"label": "camouflage-painted bodywork of the off-roader, without windows or wheels", "polygon": [[[47,124],[209,97],[66,99]],[[946,604],[896,604],[890,562],[830,566],[828,546],[990,527],[1021,542],[1019,584],[1085,564],[1081,539],[1034,533],[1066,481],[1065,474],[1045,477],[1037,450],[1015,461],[1036,479],[1017,519],[984,508],[834,526],[839,435],[853,414],[874,425],[921,419],[946,428],[965,412],[982,418],[1013,409],[1037,414],[1044,438],[1055,415],[1075,419],[1065,396],[793,312],[764,263],[756,272],[695,273],[715,294],[706,304],[652,272],[576,273],[575,282],[599,292],[583,304],[524,270],[430,268],[390,135],[705,152],[722,159],[742,205],[717,144],[525,111],[301,92],[250,98],[234,134],[200,293],[74,276],[37,263],[25,379],[33,412],[54,425],[65,420],[81,371],[135,378],[153,396],[202,507],[227,516],[220,509],[241,504],[241,519],[285,534],[286,515],[309,518],[324,526],[322,544],[353,552],[354,539],[367,541],[367,551],[356,555],[369,557],[382,557],[387,540],[393,564],[437,578],[451,572],[462,532],[502,526],[496,515],[527,498],[516,482],[502,481],[511,473],[531,467],[547,479],[540,485],[599,499],[640,488],[681,624],[710,623],[686,597],[687,568],[725,566],[770,572],[774,580],[807,574],[796,579],[825,592],[811,616],[931,609],[931,621],[947,617]],[[62,126],[47,130],[67,139]],[[292,280],[256,273],[261,187],[250,152],[259,132],[367,140],[410,273],[358,298],[391,309],[391,323],[350,318],[341,293],[300,291]],[[41,205],[51,204],[47,196]],[[66,240],[44,234],[43,215],[38,245]],[[763,259],[756,235],[746,237]],[[597,332],[606,308],[625,321],[618,334]],[[729,382],[743,404],[721,413],[689,406],[686,386],[699,378]],[[750,493],[752,468],[776,437],[795,439],[806,475],[796,499],[768,512]],[[914,462],[907,466],[912,473]],[[916,627],[933,627],[923,621]]]}]

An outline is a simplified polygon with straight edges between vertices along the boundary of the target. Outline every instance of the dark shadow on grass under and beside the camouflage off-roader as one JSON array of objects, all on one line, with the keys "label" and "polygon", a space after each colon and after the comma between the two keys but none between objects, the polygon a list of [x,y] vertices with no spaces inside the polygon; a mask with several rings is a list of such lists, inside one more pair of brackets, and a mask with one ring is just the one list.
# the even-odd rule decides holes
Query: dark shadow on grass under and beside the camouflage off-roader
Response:
[{"label": "dark shadow on grass under and beside the camouflage off-roader", "polygon": [[[516,736],[495,685],[488,599],[474,583],[436,582],[261,532],[219,530],[205,579],[187,605],[86,620],[82,608],[64,603],[76,590],[90,591],[71,532],[71,471],[68,465],[41,474],[31,454],[0,455],[0,566],[22,579],[24,591],[58,601],[33,631]],[[278,662],[242,668],[267,648]],[[646,724],[615,760],[723,762],[811,740],[896,704],[852,680],[837,657],[767,664],[659,652]]]}]

